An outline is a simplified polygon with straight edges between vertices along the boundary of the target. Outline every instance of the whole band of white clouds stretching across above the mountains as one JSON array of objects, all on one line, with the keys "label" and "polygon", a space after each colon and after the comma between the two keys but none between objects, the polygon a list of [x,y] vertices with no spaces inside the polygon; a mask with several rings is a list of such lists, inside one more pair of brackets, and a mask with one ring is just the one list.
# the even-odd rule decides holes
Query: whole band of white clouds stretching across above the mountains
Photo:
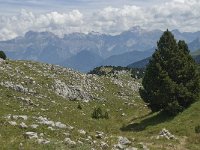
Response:
[{"label": "whole band of white clouds stretching across above the mountains", "polygon": [[80,10],[35,14],[22,10],[13,16],[0,16],[0,40],[12,39],[29,30],[50,31],[57,35],[97,31],[117,34],[133,26],[145,29],[200,30],[199,0],[169,0],[160,5],[106,7],[85,13]]}]

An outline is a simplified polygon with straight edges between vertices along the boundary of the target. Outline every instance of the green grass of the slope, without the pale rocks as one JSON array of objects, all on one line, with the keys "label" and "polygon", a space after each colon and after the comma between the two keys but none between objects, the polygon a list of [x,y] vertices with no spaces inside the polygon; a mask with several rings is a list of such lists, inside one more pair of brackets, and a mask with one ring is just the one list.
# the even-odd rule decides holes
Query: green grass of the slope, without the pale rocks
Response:
[{"label": "green grass of the slope, without the pale rocks", "polygon": [[[31,64],[31,68],[27,64]],[[141,142],[145,143],[150,149],[193,150],[200,147],[200,134],[194,132],[194,127],[200,124],[200,101],[175,118],[168,118],[163,114],[150,114],[150,110],[145,107],[137,93],[132,93],[125,90],[125,88],[114,85],[108,77],[98,78],[105,86],[105,90],[98,94],[103,96],[106,101],[92,101],[89,103],[68,101],[48,90],[52,84],[52,78],[42,76],[33,68],[49,74],[56,74],[56,78],[70,81],[68,74],[57,74],[55,70],[44,70],[39,63],[8,61],[7,65],[10,66],[10,70],[0,72],[0,82],[8,80],[25,82],[24,76],[31,76],[40,85],[35,88],[39,93],[38,95],[45,96],[31,96],[0,86],[0,145],[2,149],[18,149],[20,143],[23,144],[24,149],[72,149],[62,142],[65,138],[63,133],[67,132],[70,133],[70,137],[74,141],[80,140],[81,137],[86,138],[87,135],[90,135],[97,143],[105,141],[110,145],[109,149],[117,143],[118,136],[128,137],[132,140],[133,146],[138,148],[141,147]],[[16,73],[15,68],[21,70],[23,75],[20,75],[20,72]],[[15,74],[15,76],[11,77],[12,74]],[[129,77],[123,78],[130,80]],[[31,88],[33,85],[27,84],[27,86]],[[128,106],[124,103],[125,101],[117,94],[119,91],[125,92],[128,95],[125,101],[133,102],[134,105]],[[38,106],[23,103],[17,97],[29,97]],[[55,103],[52,101],[55,101]],[[82,110],[77,109],[78,104],[82,106]],[[97,106],[101,106],[103,110],[108,110],[110,119],[91,119],[92,110]],[[125,113],[126,116],[121,116],[122,113]],[[30,127],[20,129],[18,126],[11,126],[8,123],[8,120],[4,118],[8,114],[28,115],[29,119],[27,121],[17,120],[18,123],[23,121],[27,125],[31,125],[36,123],[33,116],[46,116],[51,120],[69,124],[75,129],[50,131],[44,125],[40,125],[37,129],[31,129]],[[178,137],[178,140],[155,139],[162,128],[168,129]],[[78,129],[84,129],[87,131],[87,135],[80,135],[77,132]],[[44,133],[44,138],[49,139],[51,143],[41,145],[34,140],[25,139],[23,133],[26,131],[35,131],[38,134]],[[96,139],[95,131],[103,131],[108,138]],[[132,138],[135,138],[135,140]],[[74,149],[89,149],[91,147],[99,149],[98,144],[90,145],[87,142],[84,142],[84,145],[77,145]]]}]

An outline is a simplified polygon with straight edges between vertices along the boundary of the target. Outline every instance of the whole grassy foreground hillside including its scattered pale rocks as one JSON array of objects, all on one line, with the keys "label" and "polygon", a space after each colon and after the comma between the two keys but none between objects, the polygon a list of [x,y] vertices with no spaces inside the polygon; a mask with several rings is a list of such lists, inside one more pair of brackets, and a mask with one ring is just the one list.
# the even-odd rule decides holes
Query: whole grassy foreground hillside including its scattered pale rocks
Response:
[{"label": "whole grassy foreground hillside including its scattered pale rocks", "polygon": [[[200,134],[194,128],[200,125],[200,102],[175,118],[152,114],[138,95],[140,85],[128,70],[98,76],[3,61],[1,149],[197,150]],[[97,107],[109,118],[93,119]]]}]

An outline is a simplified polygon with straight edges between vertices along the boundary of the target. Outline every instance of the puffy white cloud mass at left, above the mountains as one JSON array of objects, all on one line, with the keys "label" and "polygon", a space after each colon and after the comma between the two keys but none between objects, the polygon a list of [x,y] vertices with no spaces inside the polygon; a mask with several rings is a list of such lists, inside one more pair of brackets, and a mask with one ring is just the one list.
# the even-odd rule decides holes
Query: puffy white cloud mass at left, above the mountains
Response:
[{"label": "puffy white cloud mass at left, above the mountains", "polygon": [[82,19],[83,14],[78,10],[69,13],[51,12],[41,15],[22,10],[16,16],[0,17],[0,40],[23,35],[29,30],[51,31],[57,34],[62,34],[67,28],[79,31],[79,26],[83,23]]}]

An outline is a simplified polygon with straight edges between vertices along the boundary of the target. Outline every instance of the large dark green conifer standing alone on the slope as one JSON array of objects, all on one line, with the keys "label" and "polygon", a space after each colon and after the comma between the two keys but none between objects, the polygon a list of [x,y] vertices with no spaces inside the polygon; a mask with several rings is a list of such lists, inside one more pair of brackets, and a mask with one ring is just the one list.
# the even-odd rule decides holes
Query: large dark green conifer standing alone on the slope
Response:
[{"label": "large dark green conifer standing alone on the slope", "polygon": [[200,76],[184,41],[178,43],[168,30],[146,68],[140,94],[153,112],[176,115],[198,100]]}]

